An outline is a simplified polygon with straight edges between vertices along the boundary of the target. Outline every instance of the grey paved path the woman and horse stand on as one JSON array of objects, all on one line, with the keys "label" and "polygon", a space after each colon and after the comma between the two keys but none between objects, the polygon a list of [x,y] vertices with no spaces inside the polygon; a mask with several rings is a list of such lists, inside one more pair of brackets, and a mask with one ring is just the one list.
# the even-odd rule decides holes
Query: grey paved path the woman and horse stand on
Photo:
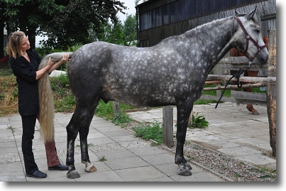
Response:
[{"label": "grey paved path the woman and horse stand on", "polygon": [[[55,114],[55,143],[62,163],[65,163],[67,133],[65,127],[72,114]],[[33,152],[39,170],[47,178],[26,178],[21,151],[21,116],[0,118],[0,181],[2,182],[221,182],[226,181],[192,164],[192,176],[177,175],[175,155],[161,147],[150,146],[150,141],[136,138],[133,133],[94,116],[89,131],[89,158],[97,172],[84,172],[81,163],[79,138],[75,143],[75,166],[81,178],[68,179],[67,171],[49,171],[43,138],[36,124]],[[207,130],[205,130],[207,131]],[[106,158],[99,161],[99,158]]]}]

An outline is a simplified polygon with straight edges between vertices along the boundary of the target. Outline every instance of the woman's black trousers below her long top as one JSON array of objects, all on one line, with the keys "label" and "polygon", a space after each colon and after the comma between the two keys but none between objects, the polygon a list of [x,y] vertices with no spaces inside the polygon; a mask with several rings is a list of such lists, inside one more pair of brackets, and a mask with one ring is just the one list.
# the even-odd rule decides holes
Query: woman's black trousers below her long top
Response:
[{"label": "woman's black trousers below her long top", "polygon": [[38,170],[38,166],[35,164],[35,158],[32,150],[35,133],[35,121],[37,119],[37,115],[21,117],[23,126],[22,152],[25,163],[25,170],[26,173],[33,173]]}]

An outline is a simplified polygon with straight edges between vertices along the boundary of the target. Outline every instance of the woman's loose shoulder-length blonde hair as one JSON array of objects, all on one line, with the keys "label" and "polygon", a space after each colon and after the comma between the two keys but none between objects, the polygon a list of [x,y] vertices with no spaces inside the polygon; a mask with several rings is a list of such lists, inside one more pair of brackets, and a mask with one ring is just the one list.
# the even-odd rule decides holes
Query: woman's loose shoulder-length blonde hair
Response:
[{"label": "woman's loose shoulder-length blonde hair", "polygon": [[25,33],[22,31],[16,31],[9,34],[7,54],[13,56],[13,58],[18,58],[23,55],[21,49],[21,40],[24,38]]}]

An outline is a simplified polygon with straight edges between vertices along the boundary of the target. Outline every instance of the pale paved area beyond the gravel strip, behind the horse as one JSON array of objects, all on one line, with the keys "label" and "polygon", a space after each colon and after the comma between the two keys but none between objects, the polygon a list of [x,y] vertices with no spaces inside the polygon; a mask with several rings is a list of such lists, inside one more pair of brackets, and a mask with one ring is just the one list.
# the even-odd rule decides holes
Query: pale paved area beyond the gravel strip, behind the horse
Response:
[{"label": "pale paved area beyond the gravel strip, behind the horse", "polygon": [[[260,115],[252,115],[245,104],[233,103],[194,105],[194,114],[199,112],[209,122],[206,129],[188,129],[186,140],[230,155],[253,165],[276,169],[276,160],[271,158],[267,108],[254,106]],[[177,124],[177,109],[173,109],[174,132]],[[129,112],[136,121],[160,121],[162,109]]]}]

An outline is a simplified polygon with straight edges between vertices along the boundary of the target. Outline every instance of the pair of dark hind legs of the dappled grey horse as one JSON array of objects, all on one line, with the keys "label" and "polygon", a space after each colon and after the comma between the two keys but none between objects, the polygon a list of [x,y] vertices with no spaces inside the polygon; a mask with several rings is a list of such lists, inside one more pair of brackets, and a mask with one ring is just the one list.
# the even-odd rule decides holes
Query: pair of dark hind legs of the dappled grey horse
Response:
[{"label": "pair of dark hind legs of the dappled grey horse", "polygon": [[[86,165],[87,172],[94,172],[96,168],[90,163],[87,151],[87,135],[89,133],[89,125],[94,115],[94,110],[97,107],[99,98],[94,104],[88,105],[77,102],[75,113],[72,115],[70,123],[67,125],[67,178],[79,178],[80,175],[75,169],[75,138],[79,133],[80,148],[82,152],[82,163]],[[90,103],[90,102],[89,102]]]}]

